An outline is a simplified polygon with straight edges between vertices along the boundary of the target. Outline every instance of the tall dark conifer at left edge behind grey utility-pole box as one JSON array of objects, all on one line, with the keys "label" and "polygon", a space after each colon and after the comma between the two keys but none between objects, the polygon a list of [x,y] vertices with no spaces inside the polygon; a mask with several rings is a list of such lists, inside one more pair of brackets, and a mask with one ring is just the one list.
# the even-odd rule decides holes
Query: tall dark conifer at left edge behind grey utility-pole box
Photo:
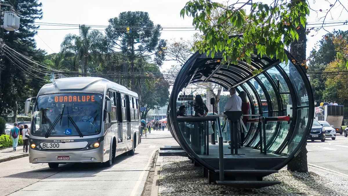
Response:
[{"label": "tall dark conifer at left edge behind grey utility-pole box", "polygon": [[[14,9],[21,14],[21,25],[16,31],[3,30],[3,41],[15,51],[31,57],[33,60],[40,61],[42,56],[41,50],[36,50],[34,35],[37,33],[34,25],[35,20],[42,18],[41,3],[38,0],[7,0],[1,1],[3,4],[13,5]],[[2,10],[9,10],[8,6],[1,6]],[[42,79],[34,76],[35,71],[28,69],[17,61],[11,61],[11,57],[7,52],[4,53],[1,65],[0,76],[0,115],[8,115],[17,111],[17,103],[31,96],[31,89],[34,86],[42,85]],[[33,64],[30,64],[33,66]],[[35,81],[40,80],[40,81]],[[36,87],[35,87],[36,88]]]}]

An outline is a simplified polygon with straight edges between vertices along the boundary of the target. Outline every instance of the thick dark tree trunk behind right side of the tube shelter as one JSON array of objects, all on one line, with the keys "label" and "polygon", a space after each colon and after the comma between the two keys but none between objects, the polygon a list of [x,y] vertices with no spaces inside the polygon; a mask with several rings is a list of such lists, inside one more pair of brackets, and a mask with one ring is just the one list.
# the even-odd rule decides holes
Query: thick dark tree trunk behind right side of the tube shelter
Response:
[{"label": "thick dark tree trunk behind right side of the tube shelter", "polygon": [[[304,2],[304,0],[301,0]],[[290,44],[290,53],[295,57],[295,59],[299,62],[306,61],[306,27],[301,27],[296,30],[299,33],[299,40],[295,40]],[[287,165],[287,169],[290,171],[298,171],[298,172],[308,172],[307,166],[307,143],[305,142],[298,153],[298,155],[290,161]]]}]

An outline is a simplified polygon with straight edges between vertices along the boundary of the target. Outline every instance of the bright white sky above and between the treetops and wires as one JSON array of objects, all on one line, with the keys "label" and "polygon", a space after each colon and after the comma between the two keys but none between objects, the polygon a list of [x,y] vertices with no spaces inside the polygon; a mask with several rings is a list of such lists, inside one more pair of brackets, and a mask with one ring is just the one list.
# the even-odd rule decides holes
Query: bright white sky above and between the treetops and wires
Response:
[{"label": "bright white sky above and between the treetops and wires", "polygon": [[[47,23],[65,23],[65,24],[87,24],[87,25],[108,25],[109,18],[117,17],[120,12],[125,11],[144,11],[148,12],[151,20],[155,24],[162,26],[187,26],[192,24],[192,18],[180,17],[180,10],[188,0],[41,0],[44,17],[37,22]],[[312,3],[313,1],[310,0]],[[348,8],[348,1],[343,0]],[[326,0],[316,0],[311,4],[313,9],[329,9],[329,3]],[[341,12],[340,9],[334,9],[333,17],[326,18],[327,22],[337,20],[348,20],[347,12]],[[321,13],[323,14],[323,13]],[[308,22],[315,22],[317,14],[311,11]],[[60,29],[69,27],[45,26],[40,29]],[[333,29],[348,30],[348,25],[337,27],[327,27],[328,31]],[[190,39],[197,31],[162,31],[162,39]],[[35,36],[37,47],[44,49],[48,54],[60,51],[60,44],[63,37],[68,33],[78,33],[78,30],[38,30]],[[307,56],[314,47],[315,43],[325,35],[326,31],[321,30],[314,37],[307,36]],[[311,33],[310,35],[313,35]],[[163,70],[170,67],[174,62],[167,61],[162,67]]]}]

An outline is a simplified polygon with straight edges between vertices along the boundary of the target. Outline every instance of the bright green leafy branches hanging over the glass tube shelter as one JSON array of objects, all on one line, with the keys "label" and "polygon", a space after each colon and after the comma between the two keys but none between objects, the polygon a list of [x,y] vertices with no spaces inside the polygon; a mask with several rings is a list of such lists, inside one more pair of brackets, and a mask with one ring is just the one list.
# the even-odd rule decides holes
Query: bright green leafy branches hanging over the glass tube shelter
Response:
[{"label": "bright green leafy branches hanging over the glass tube shelter", "polygon": [[[246,14],[243,7],[249,2],[239,8],[237,3],[223,8],[210,0],[187,2],[180,15],[192,16],[192,24],[205,35],[201,42],[196,42],[194,50],[207,56],[210,54],[212,58],[215,53],[221,52],[222,63],[237,63],[238,60],[251,63],[254,50],[261,57],[266,55],[287,62],[284,47],[299,38],[296,29],[306,26],[306,16],[309,15],[307,3],[281,0],[267,5],[256,2],[252,3],[250,14]],[[217,18],[218,24],[211,25],[210,15],[218,8],[224,11]],[[236,28],[247,24],[243,37],[229,37],[223,28],[226,22]]]}]

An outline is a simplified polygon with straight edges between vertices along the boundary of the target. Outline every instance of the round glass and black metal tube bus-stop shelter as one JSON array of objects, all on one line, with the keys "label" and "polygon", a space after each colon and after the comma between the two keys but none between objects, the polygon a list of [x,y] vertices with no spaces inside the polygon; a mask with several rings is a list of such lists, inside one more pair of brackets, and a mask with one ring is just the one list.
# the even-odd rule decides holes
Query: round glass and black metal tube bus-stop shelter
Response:
[{"label": "round glass and black metal tube bus-stop shelter", "polygon": [[[215,134],[217,141],[216,138],[219,137],[217,126],[222,129],[224,140],[222,160],[224,169],[228,171],[225,175],[230,174],[230,180],[235,181],[231,183],[232,186],[236,186],[238,180],[251,182],[251,187],[272,185],[272,183],[260,185],[264,182],[262,177],[284,167],[306,142],[314,118],[313,93],[302,66],[298,65],[287,51],[286,54],[289,59],[287,63],[267,56],[261,58],[253,55],[251,65],[238,61],[237,65],[227,66],[220,64],[221,54],[216,54],[212,59],[196,52],[182,66],[169,99],[168,127],[189,157],[209,172],[209,181],[219,180],[221,157],[219,157],[219,147],[217,144],[212,144],[211,137]],[[256,69],[262,71],[258,75],[253,75],[252,71]],[[212,133],[214,131],[211,127],[214,121],[212,119],[195,120],[197,117],[190,115],[185,118],[177,116],[177,111],[182,105],[178,100],[185,97],[181,93],[182,90],[197,82],[213,82],[225,89],[235,87],[237,93],[246,92],[250,110],[248,122],[243,129],[245,147],[238,149],[239,155],[228,153],[229,123],[223,117],[219,117],[221,122],[214,123],[215,133]],[[193,96],[191,98],[193,99]],[[258,121],[260,116],[290,116],[290,121],[267,122],[263,134],[262,122]],[[263,140],[266,141],[267,154],[260,153]],[[243,178],[243,176],[254,178]]]}]

